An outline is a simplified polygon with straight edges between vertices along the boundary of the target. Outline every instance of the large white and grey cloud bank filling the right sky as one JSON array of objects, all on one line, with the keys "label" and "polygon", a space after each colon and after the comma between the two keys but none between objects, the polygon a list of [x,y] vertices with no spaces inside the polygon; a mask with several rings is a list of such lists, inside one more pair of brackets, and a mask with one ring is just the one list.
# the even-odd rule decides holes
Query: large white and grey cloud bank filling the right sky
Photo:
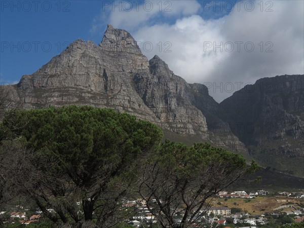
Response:
[{"label": "large white and grey cloud bank filling the right sky", "polygon": [[221,101],[259,78],[304,73],[304,3],[246,3],[205,19],[197,1],[172,1],[170,14],[133,9],[111,12],[108,22],[131,30],[148,58],[160,56],[175,74],[205,83]]}]

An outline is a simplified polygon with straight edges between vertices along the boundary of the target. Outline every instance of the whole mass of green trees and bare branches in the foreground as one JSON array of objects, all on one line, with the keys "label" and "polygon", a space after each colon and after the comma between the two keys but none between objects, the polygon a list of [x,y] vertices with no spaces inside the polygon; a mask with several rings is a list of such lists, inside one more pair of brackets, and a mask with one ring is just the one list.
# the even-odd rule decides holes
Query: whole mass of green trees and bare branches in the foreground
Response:
[{"label": "whole mass of green trees and bare branches in the foreground", "polygon": [[160,128],[112,109],[14,110],[0,130],[0,203],[23,197],[59,226],[122,225],[134,212],[124,199],[137,195],[163,227],[186,227],[258,168],[207,143],[161,143]]}]

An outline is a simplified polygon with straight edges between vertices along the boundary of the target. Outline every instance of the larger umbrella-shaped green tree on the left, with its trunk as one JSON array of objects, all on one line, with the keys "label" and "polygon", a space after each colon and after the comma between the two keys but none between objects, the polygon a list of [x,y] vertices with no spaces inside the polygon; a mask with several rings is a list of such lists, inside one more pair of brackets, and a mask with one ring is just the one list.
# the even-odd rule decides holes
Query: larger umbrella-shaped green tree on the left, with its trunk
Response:
[{"label": "larger umbrella-shaped green tree on the left, with its trunk", "polygon": [[94,220],[99,226],[109,226],[121,212],[118,202],[136,173],[136,159],[163,137],[147,121],[89,106],[15,111],[2,128],[2,138],[24,138],[26,148],[34,151],[35,178],[19,191],[56,223]]}]

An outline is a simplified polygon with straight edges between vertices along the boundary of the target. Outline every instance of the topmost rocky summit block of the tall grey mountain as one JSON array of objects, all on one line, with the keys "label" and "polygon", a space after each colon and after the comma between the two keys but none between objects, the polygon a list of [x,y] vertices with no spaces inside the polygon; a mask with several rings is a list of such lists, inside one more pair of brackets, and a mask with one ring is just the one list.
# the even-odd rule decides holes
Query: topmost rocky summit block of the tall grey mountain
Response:
[{"label": "topmost rocky summit block of the tall grey mountain", "polygon": [[99,46],[105,51],[141,54],[137,42],[129,32],[124,29],[113,28],[110,24],[107,25]]}]

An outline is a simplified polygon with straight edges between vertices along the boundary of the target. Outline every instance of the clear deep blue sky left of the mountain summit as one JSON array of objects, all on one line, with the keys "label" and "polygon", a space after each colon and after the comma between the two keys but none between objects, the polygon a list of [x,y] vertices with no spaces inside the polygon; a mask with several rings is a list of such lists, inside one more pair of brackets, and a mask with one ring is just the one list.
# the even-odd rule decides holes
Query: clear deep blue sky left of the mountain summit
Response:
[{"label": "clear deep blue sky left of the mountain summit", "polygon": [[47,4],[45,9],[38,5],[36,12],[32,4],[32,9],[25,12],[25,6],[20,6],[18,11],[11,6],[4,8],[3,3],[1,1],[0,12],[2,82],[19,81],[23,74],[31,74],[74,40],[98,41],[98,35],[89,32],[94,15],[100,12],[98,1],[92,1],[91,6],[82,1],[63,1],[59,12],[55,1],[49,1],[52,6],[49,12]]}]

